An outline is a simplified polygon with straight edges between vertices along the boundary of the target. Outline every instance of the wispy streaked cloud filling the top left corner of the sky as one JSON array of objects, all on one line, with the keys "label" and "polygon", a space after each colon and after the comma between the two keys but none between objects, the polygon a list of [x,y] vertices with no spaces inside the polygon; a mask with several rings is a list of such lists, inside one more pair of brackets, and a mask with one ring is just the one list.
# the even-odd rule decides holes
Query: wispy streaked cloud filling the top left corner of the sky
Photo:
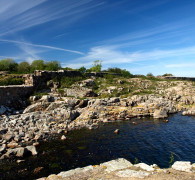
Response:
[{"label": "wispy streaked cloud filling the top left corner of the sky", "polygon": [[[103,5],[92,0],[2,0],[0,2],[0,36],[21,31],[60,18],[78,20],[91,9]],[[66,21],[65,21],[66,22]]]}]

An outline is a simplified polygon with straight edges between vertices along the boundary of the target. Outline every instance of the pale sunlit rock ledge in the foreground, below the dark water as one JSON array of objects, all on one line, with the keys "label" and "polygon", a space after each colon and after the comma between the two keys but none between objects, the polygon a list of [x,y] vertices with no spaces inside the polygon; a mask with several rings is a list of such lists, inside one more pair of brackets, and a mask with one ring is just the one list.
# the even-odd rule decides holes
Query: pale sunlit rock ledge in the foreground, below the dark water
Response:
[{"label": "pale sunlit rock ledge in the foreground, below the dark water", "polygon": [[195,164],[176,161],[171,168],[160,169],[156,164],[139,163],[133,165],[123,158],[100,165],[90,165],[60,172],[38,180],[106,180],[106,179],[148,179],[148,180],[189,180],[195,179]]}]

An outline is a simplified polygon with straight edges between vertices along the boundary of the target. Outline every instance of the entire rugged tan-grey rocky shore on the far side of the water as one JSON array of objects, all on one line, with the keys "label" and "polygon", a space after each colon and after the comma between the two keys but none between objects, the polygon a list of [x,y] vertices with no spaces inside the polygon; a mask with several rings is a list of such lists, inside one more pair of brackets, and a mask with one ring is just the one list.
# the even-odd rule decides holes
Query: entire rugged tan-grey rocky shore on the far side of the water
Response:
[{"label": "entire rugged tan-grey rocky shore on the far side of the water", "polygon": [[[138,78],[130,79],[130,83],[136,81],[139,89],[147,89],[151,85],[148,80],[138,80]],[[120,87],[124,86],[124,81],[117,82],[119,84],[117,90],[121,92]],[[85,96],[89,94],[89,87],[94,85],[93,79],[84,80],[69,88],[69,93],[83,97],[84,94]],[[172,87],[169,87],[171,85]],[[86,92],[84,89],[76,88],[77,86],[85,87]],[[30,97],[31,105],[22,111],[14,111],[15,115],[11,115],[9,108],[1,106],[0,158],[36,155],[39,141],[47,140],[55,134],[61,134],[62,140],[65,140],[68,131],[84,127],[93,129],[98,127],[100,122],[131,121],[132,118],[149,116],[154,119],[164,119],[164,122],[168,123],[166,118],[169,114],[181,110],[184,110],[183,115],[195,114],[193,108],[195,88],[191,82],[159,81],[158,86],[154,94],[133,95],[126,98],[67,97],[66,94],[62,96],[56,93],[56,89],[52,89],[52,93],[41,98]],[[114,90],[113,88],[99,91],[98,96],[105,92],[112,94],[116,90],[116,87]],[[132,123],[136,125],[136,122]]]}]

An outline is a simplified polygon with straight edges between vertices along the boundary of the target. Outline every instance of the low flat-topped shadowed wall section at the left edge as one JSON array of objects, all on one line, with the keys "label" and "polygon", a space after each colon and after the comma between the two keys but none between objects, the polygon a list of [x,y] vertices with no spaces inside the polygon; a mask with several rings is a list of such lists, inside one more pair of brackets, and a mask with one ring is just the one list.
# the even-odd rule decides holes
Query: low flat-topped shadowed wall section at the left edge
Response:
[{"label": "low flat-topped shadowed wall section at the left edge", "polygon": [[12,85],[0,86],[0,106],[20,108],[25,104],[23,100],[33,92],[33,86]]}]

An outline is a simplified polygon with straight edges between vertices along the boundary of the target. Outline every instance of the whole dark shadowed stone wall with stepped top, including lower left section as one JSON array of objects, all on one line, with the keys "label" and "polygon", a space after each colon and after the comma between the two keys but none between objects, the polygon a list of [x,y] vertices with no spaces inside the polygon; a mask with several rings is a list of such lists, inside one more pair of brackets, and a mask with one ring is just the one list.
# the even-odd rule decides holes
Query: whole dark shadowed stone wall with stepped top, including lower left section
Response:
[{"label": "whole dark shadowed stone wall with stepped top, including lower left section", "polygon": [[35,71],[24,75],[24,85],[0,86],[0,106],[5,105],[16,109],[25,106],[26,99],[36,90],[47,87],[47,81],[55,77],[82,76],[79,71]]}]

